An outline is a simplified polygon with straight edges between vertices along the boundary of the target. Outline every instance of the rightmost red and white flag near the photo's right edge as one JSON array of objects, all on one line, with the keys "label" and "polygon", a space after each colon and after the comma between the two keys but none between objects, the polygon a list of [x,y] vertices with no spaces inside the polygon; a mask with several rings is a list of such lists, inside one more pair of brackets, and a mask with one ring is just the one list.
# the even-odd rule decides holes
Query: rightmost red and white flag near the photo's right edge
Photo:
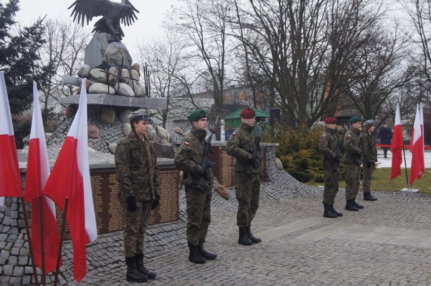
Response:
[{"label": "rightmost red and white flag near the photo's right edge", "polygon": [[417,105],[414,119],[410,152],[412,153],[412,164],[410,168],[410,184],[425,172],[425,160],[423,154],[423,115],[422,104]]}]

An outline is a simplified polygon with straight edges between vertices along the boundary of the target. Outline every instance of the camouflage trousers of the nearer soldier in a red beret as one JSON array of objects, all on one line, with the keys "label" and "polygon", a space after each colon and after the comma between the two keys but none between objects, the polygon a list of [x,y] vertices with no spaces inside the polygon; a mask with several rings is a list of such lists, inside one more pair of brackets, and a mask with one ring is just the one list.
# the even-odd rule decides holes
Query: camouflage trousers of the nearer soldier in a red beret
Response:
[{"label": "camouflage trousers of the nearer soldier in a red beret", "polygon": [[235,191],[238,201],[236,223],[239,227],[249,226],[259,207],[261,177],[252,174],[250,179],[246,173],[235,172]]}]

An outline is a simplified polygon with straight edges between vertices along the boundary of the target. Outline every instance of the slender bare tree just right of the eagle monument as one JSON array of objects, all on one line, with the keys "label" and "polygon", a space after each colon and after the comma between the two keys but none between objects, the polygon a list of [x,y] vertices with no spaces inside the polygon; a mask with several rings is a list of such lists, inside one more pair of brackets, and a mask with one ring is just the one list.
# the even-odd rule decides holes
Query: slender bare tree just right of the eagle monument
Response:
[{"label": "slender bare tree just right of the eagle monument", "polygon": [[[188,61],[178,78],[194,84],[195,91],[210,86],[215,106],[223,104],[223,89],[234,75],[227,76],[226,66],[232,49],[229,36],[231,0],[181,0],[166,27],[175,31],[177,40],[186,44],[184,58]],[[187,79],[187,80],[186,80]],[[190,84],[186,84],[190,86]],[[191,93],[191,92],[190,92]]]}]

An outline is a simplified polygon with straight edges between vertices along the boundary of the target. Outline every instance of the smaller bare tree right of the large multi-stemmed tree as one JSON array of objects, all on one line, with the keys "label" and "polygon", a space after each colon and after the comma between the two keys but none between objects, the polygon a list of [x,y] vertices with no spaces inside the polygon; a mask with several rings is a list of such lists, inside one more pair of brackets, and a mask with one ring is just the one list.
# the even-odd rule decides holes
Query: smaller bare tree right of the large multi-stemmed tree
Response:
[{"label": "smaller bare tree right of the large multi-stemmed tree", "polygon": [[408,40],[395,27],[375,27],[372,34],[374,40],[364,44],[352,60],[356,78],[346,92],[344,108],[381,122],[395,114],[396,103],[391,98],[414,84],[417,67],[405,61],[410,53]]}]

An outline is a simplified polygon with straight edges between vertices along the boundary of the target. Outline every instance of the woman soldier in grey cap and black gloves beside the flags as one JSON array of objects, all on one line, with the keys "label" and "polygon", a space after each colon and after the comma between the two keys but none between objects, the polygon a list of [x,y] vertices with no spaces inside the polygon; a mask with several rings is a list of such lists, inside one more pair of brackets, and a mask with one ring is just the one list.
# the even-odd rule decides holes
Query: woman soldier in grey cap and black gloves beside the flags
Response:
[{"label": "woman soldier in grey cap and black gloves beside the flags", "polygon": [[128,118],[132,132],[115,149],[118,198],[124,211],[127,281],[145,282],[156,274],[144,267],[144,236],[151,210],[160,201],[160,178],[153,146],[145,137],[151,118],[141,109]]}]

